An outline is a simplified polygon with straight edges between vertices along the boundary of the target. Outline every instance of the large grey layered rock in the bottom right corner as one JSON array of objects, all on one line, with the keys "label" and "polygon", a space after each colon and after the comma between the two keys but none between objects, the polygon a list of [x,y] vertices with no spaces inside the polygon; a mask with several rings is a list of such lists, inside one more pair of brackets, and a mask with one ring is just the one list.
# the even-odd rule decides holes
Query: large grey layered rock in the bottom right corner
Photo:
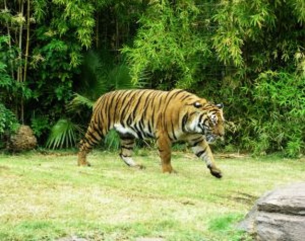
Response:
[{"label": "large grey layered rock in the bottom right corner", "polygon": [[258,241],[304,241],[305,182],[264,194],[238,227]]}]

